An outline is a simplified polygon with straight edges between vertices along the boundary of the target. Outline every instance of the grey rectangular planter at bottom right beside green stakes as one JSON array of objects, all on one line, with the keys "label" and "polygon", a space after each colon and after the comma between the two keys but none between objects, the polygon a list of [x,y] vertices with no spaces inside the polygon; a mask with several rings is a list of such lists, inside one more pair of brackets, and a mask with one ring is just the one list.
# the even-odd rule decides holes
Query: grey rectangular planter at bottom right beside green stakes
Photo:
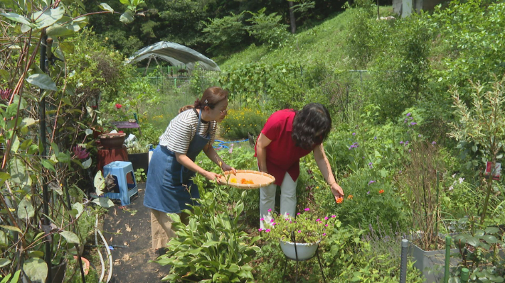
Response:
[{"label": "grey rectangular planter at bottom right beside green stakes", "polygon": [[[425,282],[440,283],[444,281],[445,250],[422,250],[414,243],[410,242],[409,254],[414,257],[414,267],[422,272]],[[459,253],[459,249],[451,249],[451,255]],[[461,258],[451,257],[450,266],[456,267]],[[438,268],[437,268],[438,267]],[[442,272],[433,272],[433,270],[442,270]]]}]

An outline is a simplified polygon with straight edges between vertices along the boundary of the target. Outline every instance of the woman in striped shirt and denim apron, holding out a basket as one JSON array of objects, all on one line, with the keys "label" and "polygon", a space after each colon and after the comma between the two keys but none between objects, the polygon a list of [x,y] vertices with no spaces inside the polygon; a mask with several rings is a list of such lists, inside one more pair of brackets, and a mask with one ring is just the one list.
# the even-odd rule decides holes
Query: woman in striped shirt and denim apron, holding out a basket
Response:
[{"label": "woman in striped shirt and denim apron, holding out a basket", "polygon": [[[193,106],[185,106],[159,138],[149,163],[144,206],[151,209],[152,247],[164,248],[175,236],[171,229],[172,219],[166,213],[178,213],[183,223],[188,223],[188,215],[183,209],[191,209],[186,204],[197,205],[198,187],[191,180],[196,173],[208,180],[215,180],[220,174],[209,172],[196,165],[196,155],[203,150],[207,157],[223,170],[235,168],[226,164],[213,149],[217,123],[223,121],[228,108],[228,91],[220,87],[209,87],[201,99]],[[160,251],[163,251],[162,249]]]}]

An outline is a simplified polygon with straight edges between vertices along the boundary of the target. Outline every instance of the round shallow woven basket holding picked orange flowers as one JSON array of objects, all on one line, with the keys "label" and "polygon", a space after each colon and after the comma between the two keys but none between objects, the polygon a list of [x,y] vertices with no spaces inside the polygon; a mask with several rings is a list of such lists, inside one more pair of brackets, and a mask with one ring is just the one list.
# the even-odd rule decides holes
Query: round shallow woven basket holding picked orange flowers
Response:
[{"label": "round shallow woven basket holding picked orange flowers", "polygon": [[[230,180],[233,178],[237,179],[236,183],[230,182]],[[254,184],[241,184],[240,180],[242,179],[251,180]],[[230,187],[239,189],[258,189],[261,187],[267,187],[269,184],[272,184],[275,182],[275,178],[265,172],[253,170],[237,170],[237,174],[233,174],[232,171],[225,171],[224,176],[220,178],[220,182],[223,184],[228,184]]]}]

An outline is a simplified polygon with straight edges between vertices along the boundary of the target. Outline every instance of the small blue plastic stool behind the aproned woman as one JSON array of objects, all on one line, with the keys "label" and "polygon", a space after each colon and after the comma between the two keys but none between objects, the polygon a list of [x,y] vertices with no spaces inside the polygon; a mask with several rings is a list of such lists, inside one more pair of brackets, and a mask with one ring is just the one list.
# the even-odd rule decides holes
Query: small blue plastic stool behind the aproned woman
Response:
[{"label": "small blue plastic stool behind the aproned woman", "polygon": [[[127,182],[127,175],[132,173],[133,184]],[[126,206],[130,204],[129,199],[137,194],[137,182],[135,182],[135,174],[133,173],[132,162],[128,161],[115,161],[103,167],[104,177],[111,174],[115,179],[117,179],[117,185],[119,187],[119,193],[105,193],[104,196],[110,199],[120,199],[121,205]]]}]

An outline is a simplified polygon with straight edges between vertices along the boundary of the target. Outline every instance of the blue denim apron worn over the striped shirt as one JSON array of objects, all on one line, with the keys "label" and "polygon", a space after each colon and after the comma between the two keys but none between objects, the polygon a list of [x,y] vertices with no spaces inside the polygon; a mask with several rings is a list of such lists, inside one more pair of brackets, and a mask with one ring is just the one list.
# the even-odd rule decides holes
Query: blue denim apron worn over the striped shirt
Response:
[{"label": "blue denim apron worn over the striped shirt", "polygon": [[[196,156],[211,140],[210,128],[206,136],[199,135],[201,110],[198,110],[198,126],[196,133],[189,143],[188,156],[193,162]],[[210,122],[209,122],[210,123]],[[183,209],[191,209],[186,204],[198,205],[191,198],[199,199],[198,187],[191,180],[195,172],[177,162],[175,152],[163,145],[159,145],[153,152],[149,170],[147,171],[146,194],[144,206],[164,213],[181,213]]]}]

